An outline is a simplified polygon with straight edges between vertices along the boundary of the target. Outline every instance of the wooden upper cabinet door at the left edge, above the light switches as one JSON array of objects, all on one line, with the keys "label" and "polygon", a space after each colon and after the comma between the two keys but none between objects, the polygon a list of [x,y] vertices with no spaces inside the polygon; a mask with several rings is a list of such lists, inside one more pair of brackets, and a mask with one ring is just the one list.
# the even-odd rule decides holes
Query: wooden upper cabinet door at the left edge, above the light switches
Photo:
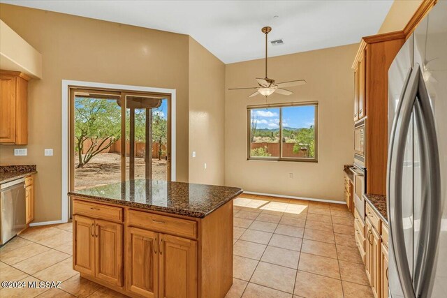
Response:
[{"label": "wooden upper cabinet door at the left edge, above the light switches", "polygon": [[16,77],[0,75],[0,143],[15,142]]}]

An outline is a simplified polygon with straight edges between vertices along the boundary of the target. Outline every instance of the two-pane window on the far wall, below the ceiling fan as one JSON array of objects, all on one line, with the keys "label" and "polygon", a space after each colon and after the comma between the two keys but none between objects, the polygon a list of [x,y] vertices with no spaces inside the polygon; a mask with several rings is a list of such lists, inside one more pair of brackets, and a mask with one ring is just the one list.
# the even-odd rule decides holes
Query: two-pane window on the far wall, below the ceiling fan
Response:
[{"label": "two-pane window on the far wall, below the ceiling fan", "polygon": [[248,111],[248,158],[317,161],[318,103],[256,105]]}]

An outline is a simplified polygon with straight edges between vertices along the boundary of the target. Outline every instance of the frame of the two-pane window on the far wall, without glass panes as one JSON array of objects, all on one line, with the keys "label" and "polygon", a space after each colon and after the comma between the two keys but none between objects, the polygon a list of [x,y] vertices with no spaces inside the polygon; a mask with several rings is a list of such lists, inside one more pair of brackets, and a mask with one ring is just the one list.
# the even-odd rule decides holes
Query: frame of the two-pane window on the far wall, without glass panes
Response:
[{"label": "frame of the two-pane window on the far wall, without glass panes", "polygon": [[[300,107],[312,105],[315,108],[314,127],[315,127],[315,156],[314,158],[302,157],[283,157],[282,156],[282,108]],[[251,156],[251,110],[279,108],[279,157]],[[318,101],[303,101],[299,103],[272,103],[264,105],[247,105],[247,161],[293,161],[305,163],[318,163]]]}]

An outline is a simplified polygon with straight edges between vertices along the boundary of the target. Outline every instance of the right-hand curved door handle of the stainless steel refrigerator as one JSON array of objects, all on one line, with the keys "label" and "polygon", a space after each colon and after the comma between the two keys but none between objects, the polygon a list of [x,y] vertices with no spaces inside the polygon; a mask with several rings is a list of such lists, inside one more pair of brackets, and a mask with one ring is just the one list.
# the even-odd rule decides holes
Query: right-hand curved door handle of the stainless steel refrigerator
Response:
[{"label": "right-hand curved door handle of the stainless steel refrigerator", "polygon": [[418,92],[415,104],[416,129],[420,136],[420,174],[422,178],[422,212],[420,218],[420,237],[414,285],[416,297],[428,297],[432,280],[432,269],[436,259],[436,249],[441,226],[441,173],[439,168],[439,149],[434,116],[430,98],[425,88],[420,67],[416,64]]}]

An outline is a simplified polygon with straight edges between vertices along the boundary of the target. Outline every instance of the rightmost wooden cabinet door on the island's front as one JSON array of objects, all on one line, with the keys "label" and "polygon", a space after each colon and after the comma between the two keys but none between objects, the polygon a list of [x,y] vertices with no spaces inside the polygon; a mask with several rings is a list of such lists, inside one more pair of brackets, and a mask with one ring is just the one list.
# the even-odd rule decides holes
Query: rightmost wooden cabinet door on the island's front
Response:
[{"label": "rightmost wooden cabinet door on the island's front", "polygon": [[160,234],[160,297],[197,297],[197,241]]}]

